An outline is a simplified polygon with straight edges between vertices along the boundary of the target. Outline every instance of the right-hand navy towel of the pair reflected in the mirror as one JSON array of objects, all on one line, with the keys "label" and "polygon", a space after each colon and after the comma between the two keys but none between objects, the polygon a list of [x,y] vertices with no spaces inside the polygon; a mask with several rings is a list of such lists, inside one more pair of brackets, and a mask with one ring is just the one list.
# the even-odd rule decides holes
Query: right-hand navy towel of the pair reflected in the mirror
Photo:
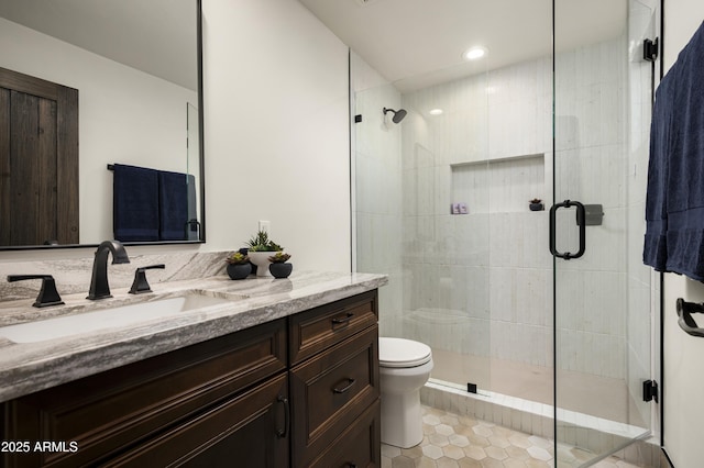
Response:
[{"label": "right-hand navy towel of the pair reflected in the mirror", "polygon": [[188,185],[180,172],[158,171],[160,231],[162,241],[187,239]]}]

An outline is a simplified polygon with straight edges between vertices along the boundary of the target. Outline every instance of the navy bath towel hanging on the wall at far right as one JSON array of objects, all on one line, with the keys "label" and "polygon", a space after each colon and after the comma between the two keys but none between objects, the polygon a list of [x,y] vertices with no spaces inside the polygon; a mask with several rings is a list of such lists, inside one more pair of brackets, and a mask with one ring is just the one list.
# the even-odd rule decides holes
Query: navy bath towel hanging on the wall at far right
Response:
[{"label": "navy bath towel hanging on the wall at far right", "polygon": [[644,263],[704,281],[704,24],[656,92]]}]

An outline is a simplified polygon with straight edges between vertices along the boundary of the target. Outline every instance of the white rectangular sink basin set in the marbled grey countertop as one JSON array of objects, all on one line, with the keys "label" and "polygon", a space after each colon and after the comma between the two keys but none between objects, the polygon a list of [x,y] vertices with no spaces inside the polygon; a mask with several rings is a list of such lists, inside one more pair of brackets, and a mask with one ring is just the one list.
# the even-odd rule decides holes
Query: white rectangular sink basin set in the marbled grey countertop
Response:
[{"label": "white rectangular sink basin set in the marbled grey countertop", "polygon": [[232,303],[232,301],[190,293],[139,304],[120,305],[95,312],[2,326],[0,327],[0,336],[14,343],[37,343],[103,328],[136,325],[140,322],[226,303]]}]

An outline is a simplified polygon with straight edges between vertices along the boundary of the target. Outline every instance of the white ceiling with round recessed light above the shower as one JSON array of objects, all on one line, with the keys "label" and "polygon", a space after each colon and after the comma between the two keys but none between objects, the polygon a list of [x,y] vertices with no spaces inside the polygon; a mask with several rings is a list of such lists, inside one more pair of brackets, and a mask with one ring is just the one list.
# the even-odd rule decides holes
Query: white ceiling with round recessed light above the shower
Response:
[{"label": "white ceiling with round recessed light above the shower", "polygon": [[[299,1],[402,92],[552,53],[552,0]],[[626,0],[556,3],[558,51],[625,29]],[[487,57],[464,62],[475,45]]]}]

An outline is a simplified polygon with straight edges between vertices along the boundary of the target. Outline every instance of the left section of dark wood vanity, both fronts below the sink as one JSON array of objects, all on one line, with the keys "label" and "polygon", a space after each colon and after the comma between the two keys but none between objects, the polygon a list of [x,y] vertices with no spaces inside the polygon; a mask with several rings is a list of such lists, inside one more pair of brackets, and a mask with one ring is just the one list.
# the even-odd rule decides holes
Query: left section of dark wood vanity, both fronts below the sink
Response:
[{"label": "left section of dark wood vanity, both fronts below the sink", "polygon": [[[239,446],[241,437],[221,436],[252,419],[252,405],[270,412],[249,422],[260,444],[287,447],[288,434],[277,435],[285,409],[276,404],[288,398],[286,345],[278,320],[7,402],[2,439],[29,441],[32,450],[3,453],[2,466],[198,466],[210,450]],[[37,441],[77,449],[37,452]],[[142,455],[165,458],[145,464]]]}]

